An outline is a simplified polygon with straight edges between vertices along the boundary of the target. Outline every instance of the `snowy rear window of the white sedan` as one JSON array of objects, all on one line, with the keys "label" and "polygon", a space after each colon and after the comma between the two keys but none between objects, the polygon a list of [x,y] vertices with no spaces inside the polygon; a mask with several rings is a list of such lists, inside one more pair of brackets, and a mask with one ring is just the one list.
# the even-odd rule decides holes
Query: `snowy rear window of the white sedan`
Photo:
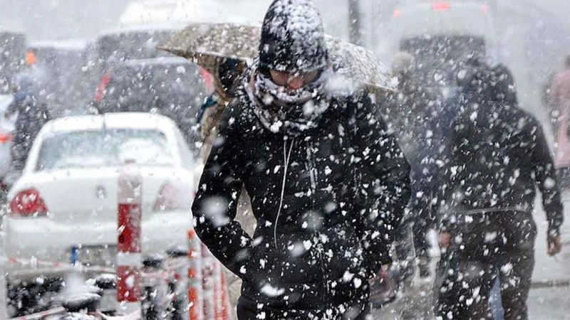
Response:
[{"label": "snowy rear window of the white sedan", "polygon": [[152,129],[86,130],[50,134],[43,139],[36,171],[120,166],[171,166],[172,151],[164,133]]}]

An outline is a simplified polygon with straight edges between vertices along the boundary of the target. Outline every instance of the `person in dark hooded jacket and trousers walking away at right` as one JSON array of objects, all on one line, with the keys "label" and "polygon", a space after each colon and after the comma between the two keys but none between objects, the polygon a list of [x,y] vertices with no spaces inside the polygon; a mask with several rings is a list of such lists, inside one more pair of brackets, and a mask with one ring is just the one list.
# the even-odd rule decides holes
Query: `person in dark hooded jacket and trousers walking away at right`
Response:
[{"label": "person in dark hooded jacket and trousers walking away at right", "polygon": [[440,186],[436,314],[492,319],[489,292],[499,277],[504,319],[528,319],[536,188],[549,223],[549,254],[561,249],[564,218],[554,163],[541,125],[517,106],[506,67],[479,64],[460,78],[461,110]]}]

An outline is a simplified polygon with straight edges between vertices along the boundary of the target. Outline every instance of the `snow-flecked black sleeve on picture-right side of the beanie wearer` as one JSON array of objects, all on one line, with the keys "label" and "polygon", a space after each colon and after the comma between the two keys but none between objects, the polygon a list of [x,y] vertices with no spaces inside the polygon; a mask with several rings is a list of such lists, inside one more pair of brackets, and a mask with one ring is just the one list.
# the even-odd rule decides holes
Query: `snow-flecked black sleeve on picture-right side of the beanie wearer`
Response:
[{"label": "snow-flecked black sleeve on picture-right side of the beanie wearer", "polygon": [[357,229],[368,272],[390,260],[390,246],[410,199],[410,164],[369,97],[356,107]]}]

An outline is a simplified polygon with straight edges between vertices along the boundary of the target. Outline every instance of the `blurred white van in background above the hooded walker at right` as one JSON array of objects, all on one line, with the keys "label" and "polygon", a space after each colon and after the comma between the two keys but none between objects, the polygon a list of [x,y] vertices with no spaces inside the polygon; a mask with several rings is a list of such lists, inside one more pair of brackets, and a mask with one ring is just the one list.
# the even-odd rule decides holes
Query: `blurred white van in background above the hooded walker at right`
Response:
[{"label": "blurred white van in background above the hooded walker at right", "polygon": [[492,12],[476,1],[402,6],[395,9],[385,34],[388,43],[379,43],[378,53],[386,61],[398,51],[413,54],[417,74],[442,95],[450,94],[454,74],[469,55],[497,60]]}]

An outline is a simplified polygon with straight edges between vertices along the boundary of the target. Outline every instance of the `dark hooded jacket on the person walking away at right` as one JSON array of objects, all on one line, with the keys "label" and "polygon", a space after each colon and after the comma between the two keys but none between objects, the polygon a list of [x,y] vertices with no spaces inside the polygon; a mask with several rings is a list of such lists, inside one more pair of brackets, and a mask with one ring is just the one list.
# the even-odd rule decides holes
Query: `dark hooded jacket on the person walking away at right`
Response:
[{"label": "dark hooded jacket on the person walking away at right", "polygon": [[478,70],[465,87],[440,177],[442,228],[455,213],[532,213],[537,188],[559,233],[563,210],[554,162],[541,125],[517,107],[512,75],[503,66]]}]

